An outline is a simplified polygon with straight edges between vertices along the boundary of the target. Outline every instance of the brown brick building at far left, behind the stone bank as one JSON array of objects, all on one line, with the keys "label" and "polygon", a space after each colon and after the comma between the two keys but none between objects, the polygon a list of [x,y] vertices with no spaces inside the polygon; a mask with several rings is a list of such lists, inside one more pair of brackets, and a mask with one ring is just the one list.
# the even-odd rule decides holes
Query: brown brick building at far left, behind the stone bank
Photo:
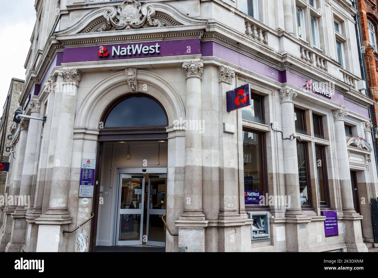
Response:
[{"label": "brown brick building at far left, behind the stone bank", "polygon": [[[10,143],[13,134],[10,132],[13,124],[13,113],[19,105],[19,98],[23,90],[25,81],[12,78],[8,95],[3,106],[3,115],[0,123],[0,161],[8,162],[11,154]],[[0,172],[0,196],[4,195],[7,172]]]}]

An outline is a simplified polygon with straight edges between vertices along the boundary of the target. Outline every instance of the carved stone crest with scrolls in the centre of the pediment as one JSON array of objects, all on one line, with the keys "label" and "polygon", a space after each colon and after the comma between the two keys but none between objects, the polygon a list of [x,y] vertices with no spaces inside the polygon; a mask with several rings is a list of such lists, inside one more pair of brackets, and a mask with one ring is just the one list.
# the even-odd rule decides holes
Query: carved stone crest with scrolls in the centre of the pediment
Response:
[{"label": "carved stone crest with scrolls in the centre of the pediment", "polygon": [[119,4],[117,9],[110,6],[105,10],[106,23],[96,32],[166,26],[165,23],[153,18],[155,14],[155,8],[149,3],[142,6],[134,0],[126,0]]}]

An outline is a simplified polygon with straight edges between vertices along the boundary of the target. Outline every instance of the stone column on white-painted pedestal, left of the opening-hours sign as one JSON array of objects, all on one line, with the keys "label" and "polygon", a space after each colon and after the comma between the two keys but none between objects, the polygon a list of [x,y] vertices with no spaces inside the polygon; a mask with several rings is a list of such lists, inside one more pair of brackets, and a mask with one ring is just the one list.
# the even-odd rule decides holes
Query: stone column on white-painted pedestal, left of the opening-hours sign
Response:
[{"label": "stone column on white-painted pedestal, left of the opening-hours sign", "polygon": [[[81,75],[81,71],[77,69],[64,69],[59,72],[59,76],[63,79],[62,106],[59,115],[59,129],[57,130],[50,202],[46,213],[36,219],[37,224],[50,224],[50,231],[54,229],[54,233],[59,237],[62,236],[62,225],[70,224],[72,221],[68,213],[67,203],[68,189],[70,187],[76,96]],[[39,225],[37,252],[57,252],[60,248],[64,248],[61,246],[63,240],[51,246],[43,244],[50,231],[48,226]]]}]

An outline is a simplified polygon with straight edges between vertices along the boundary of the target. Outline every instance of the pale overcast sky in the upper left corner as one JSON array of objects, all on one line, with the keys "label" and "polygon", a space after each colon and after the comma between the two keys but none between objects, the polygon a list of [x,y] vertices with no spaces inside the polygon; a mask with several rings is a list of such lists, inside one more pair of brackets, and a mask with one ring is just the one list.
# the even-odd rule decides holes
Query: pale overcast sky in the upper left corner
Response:
[{"label": "pale overcast sky in the upper left corner", "polygon": [[[0,3],[5,2],[0,0]],[[25,80],[25,59],[36,21],[34,0],[15,0],[0,9],[0,111],[2,111],[12,77]]]}]

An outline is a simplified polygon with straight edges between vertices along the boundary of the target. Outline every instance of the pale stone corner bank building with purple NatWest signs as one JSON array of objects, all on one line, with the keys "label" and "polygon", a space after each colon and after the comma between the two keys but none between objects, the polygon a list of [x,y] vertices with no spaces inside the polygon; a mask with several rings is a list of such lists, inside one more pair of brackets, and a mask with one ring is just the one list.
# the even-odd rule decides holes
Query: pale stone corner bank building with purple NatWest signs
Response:
[{"label": "pale stone corner bank building with purple NatWest signs", "polygon": [[352,4],[36,1],[0,250],[367,251]]}]

